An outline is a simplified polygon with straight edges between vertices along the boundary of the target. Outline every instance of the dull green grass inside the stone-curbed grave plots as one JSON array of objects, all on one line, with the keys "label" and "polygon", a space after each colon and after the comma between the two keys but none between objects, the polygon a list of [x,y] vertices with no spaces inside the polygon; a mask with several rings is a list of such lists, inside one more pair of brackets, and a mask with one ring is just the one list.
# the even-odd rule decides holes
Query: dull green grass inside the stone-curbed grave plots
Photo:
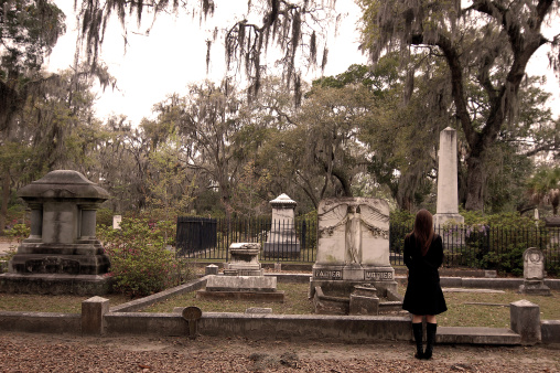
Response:
[{"label": "dull green grass inside the stone-curbed grave plots", "polygon": [[[399,286],[400,289],[402,286]],[[191,292],[153,305],[143,311],[172,312],[174,307],[196,306],[203,312],[245,312],[249,307],[268,307],[279,315],[313,313],[312,303],[308,300],[308,284],[278,284],[278,290],[286,292],[283,303],[201,300],[195,298],[194,292]],[[129,297],[121,295],[110,295],[106,298],[110,300],[110,306],[130,300]],[[0,311],[79,313],[82,301],[85,299],[87,297],[0,294]],[[445,292],[449,310],[438,317],[438,323],[442,327],[509,328],[508,306],[520,299],[539,305],[541,320],[560,320],[560,291],[552,291],[551,297],[536,297],[506,290],[504,294]]]}]

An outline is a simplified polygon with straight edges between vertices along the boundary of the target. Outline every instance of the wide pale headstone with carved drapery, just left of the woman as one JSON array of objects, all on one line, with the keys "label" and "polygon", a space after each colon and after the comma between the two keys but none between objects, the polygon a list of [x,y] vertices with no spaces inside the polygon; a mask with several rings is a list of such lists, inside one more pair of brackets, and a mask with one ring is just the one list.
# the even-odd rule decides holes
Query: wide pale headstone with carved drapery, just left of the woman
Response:
[{"label": "wide pale headstone with carved drapery, just left of the woman", "polygon": [[371,198],[321,201],[317,211],[317,257],[310,298],[317,287],[325,296],[349,298],[356,286],[371,286],[379,298],[397,295],[389,262],[389,205]]}]

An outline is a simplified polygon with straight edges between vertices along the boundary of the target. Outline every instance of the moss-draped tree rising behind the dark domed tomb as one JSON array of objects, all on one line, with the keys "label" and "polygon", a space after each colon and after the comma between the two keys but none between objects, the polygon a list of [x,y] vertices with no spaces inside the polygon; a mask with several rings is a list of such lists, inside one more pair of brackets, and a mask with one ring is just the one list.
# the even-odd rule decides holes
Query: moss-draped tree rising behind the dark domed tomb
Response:
[{"label": "moss-draped tree rising behind the dark domed tomb", "polygon": [[[90,75],[68,70],[28,95],[14,114],[15,122],[1,132],[2,206],[8,204],[11,188],[23,186],[54,169],[98,175],[94,153],[103,131],[93,109],[93,84]],[[3,219],[4,210],[0,213]]]}]

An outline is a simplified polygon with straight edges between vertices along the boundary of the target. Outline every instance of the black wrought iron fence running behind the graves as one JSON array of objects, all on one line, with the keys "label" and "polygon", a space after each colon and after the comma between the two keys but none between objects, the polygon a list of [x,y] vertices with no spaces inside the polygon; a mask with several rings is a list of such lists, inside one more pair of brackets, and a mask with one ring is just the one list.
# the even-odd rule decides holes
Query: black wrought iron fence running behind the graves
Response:
[{"label": "black wrought iron fence running behind the graves", "polygon": [[[391,224],[390,264],[403,265],[405,236],[411,226]],[[497,269],[520,275],[523,253],[536,247],[550,273],[560,274],[560,228],[503,228],[486,225],[438,227],[444,244],[445,267]],[[276,235],[276,236],[274,236]],[[231,243],[260,243],[261,260],[314,263],[315,220],[297,219],[293,226],[270,219],[177,219],[177,255],[227,260]]]}]

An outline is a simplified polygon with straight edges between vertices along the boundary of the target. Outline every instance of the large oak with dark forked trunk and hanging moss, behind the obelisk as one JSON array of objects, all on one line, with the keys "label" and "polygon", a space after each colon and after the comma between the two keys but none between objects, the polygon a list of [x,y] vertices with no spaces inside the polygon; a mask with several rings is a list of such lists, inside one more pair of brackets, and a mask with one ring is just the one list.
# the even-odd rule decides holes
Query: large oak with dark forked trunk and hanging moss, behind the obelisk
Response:
[{"label": "large oak with dark forked trunk and hanging moss, behind the obelisk", "polygon": [[[550,63],[560,67],[559,35],[546,38],[542,28],[558,20],[553,0],[359,1],[364,15],[363,45],[374,61],[384,51],[418,50],[442,58],[449,67],[455,116],[469,146],[467,210],[483,210],[485,162],[502,128],[515,121],[518,93],[529,60],[550,45]],[[408,65],[413,74],[413,66]],[[470,86],[488,103],[484,118],[474,119]],[[477,109],[477,108],[474,108]]]}]

